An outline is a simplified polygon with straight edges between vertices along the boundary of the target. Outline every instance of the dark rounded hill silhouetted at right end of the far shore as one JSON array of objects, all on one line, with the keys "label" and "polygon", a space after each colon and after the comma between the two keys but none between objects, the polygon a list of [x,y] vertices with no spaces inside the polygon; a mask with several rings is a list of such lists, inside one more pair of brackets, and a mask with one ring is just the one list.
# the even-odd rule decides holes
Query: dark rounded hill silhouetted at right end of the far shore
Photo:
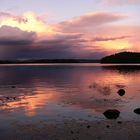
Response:
[{"label": "dark rounded hill silhouetted at right end of the far shore", "polygon": [[101,63],[140,63],[140,53],[138,52],[120,52],[101,59]]}]

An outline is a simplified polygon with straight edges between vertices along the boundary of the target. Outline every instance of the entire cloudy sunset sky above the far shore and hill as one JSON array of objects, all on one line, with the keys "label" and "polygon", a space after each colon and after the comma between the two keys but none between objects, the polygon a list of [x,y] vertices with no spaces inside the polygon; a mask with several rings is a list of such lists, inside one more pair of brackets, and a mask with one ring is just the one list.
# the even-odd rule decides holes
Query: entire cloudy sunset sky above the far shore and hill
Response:
[{"label": "entire cloudy sunset sky above the far shore and hill", "polygon": [[140,0],[0,0],[0,59],[140,52]]}]

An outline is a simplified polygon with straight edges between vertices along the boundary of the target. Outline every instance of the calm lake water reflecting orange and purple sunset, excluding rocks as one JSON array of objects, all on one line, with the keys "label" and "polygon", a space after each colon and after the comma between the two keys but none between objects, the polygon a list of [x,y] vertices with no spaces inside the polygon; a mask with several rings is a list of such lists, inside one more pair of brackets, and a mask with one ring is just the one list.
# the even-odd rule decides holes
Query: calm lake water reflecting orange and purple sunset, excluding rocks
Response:
[{"label": "calm lake water reflecting orange and purple sunset, excluding rocks", "polygon": [[106,120],[107,109],[118,109],[118,120],[140,120],[133,113],[140,107],[140,65],[1,65],[4,96],[20,100],[0,105],[3,129],[15,122]]}]

